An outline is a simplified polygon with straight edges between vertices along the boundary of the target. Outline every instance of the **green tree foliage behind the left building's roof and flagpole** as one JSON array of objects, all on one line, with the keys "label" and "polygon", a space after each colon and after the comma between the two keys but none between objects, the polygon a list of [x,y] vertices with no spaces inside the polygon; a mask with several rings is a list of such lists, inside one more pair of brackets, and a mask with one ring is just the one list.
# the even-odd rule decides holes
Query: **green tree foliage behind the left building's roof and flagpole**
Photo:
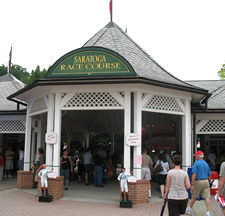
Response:
[{"label": "green tree foliage behind the left building's roof and flagpole", "polygon": [[[36,80],[44,78],[47,72],[48,71],[45,68],[41,70],[40,66],[38,65],[35,70],[32,70],[31,73],[29,73],[26,68],[13,64],[11,66],[10,73],[24,84],[29,85],[35,82]],[[1,65],[0,76],[6,74],[7,74],[7,67],[5,65]]]}]

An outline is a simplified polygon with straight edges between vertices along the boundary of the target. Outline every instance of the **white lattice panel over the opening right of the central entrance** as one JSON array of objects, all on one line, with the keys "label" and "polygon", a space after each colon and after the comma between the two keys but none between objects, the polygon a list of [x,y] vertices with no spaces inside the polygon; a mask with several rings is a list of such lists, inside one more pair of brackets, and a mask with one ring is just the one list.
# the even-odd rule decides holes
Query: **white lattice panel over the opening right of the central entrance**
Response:
[{"label": "white lattice panel over the opening right of the central entrance", "polygon": [[175,112],[183,113],[183,110],[174,98],[163,96],[152,96],[143,106],[145,109],[150,109],[160,112]]}]

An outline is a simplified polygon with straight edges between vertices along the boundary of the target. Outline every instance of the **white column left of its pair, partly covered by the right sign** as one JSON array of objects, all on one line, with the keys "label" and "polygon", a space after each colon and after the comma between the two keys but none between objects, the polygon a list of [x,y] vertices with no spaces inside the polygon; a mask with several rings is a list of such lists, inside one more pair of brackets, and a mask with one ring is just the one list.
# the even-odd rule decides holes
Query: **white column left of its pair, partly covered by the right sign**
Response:
[{"label": "white column left of its pair, partly covered by the right sign", "polygon": [[124,107],[124,167],[126,172],[130,173],[130,146],[126,144],[126,136],[129,134],[131,126],[131,93],[126,91],[124,93],[125,107]]}]

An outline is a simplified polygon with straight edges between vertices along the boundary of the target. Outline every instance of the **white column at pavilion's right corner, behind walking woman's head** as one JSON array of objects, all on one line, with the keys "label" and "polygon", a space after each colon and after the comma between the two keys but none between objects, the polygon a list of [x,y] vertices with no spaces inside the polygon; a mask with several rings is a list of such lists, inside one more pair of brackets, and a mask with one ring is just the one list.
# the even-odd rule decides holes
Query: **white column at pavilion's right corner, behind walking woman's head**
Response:
[{"label": "white column at pavilion's right corner, behind walking woman's head", "polygon": [[185,100],[185,115],[182,117],[182,156],[184,170],[191,167],[191,101]]}]

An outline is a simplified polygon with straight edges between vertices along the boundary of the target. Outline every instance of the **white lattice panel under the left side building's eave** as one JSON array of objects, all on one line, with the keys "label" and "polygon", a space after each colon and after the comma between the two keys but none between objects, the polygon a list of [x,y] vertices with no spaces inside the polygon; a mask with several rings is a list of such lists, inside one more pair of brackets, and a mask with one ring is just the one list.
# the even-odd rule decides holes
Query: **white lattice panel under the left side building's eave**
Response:
[{"label": "white lattice panel under the left side building's eave", "polygon": [[25,125],[20,120],[0,121],[0,133],[25,133]]}]

